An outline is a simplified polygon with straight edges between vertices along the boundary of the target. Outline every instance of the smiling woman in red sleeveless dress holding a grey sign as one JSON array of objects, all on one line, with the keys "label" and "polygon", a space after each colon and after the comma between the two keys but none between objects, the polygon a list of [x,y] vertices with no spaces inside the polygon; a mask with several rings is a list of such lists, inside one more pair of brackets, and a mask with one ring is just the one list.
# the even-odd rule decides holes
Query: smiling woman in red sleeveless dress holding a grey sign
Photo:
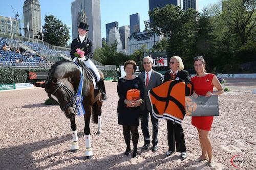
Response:
[{"label": "smiling woman in red sleeveless dress holding a grey sign", "polygon": [[[197,72],[197,76],[191,78],[191,83],[194,87],[194,93],[192,96],[194,98],[197,98],[199,95],[205,95],[208,98],[211,95],[220,95],[224,92],[218,78],[215,75],[206,72],[205,61],[202,56],[194,58],[194,67]],[[212,92],[214,86],[217,88],[217,91]],[[192,125],[197,127],[202,149],[202,155],[195,161],[206,160],[206,154],[208,154],[209,165],[211,167],[215,166],[215,161],[212,158],[212,148],[208,133],[213,119],[213,116],[192,117]]]}]

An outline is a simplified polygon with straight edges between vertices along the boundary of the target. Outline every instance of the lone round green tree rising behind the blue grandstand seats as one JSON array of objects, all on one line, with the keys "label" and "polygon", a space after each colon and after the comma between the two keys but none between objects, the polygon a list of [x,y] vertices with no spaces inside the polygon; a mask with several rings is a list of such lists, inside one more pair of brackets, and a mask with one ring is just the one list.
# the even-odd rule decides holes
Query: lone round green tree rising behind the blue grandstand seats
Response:
[{"label": "lone round green tree rising behind the blue grandstand seats", "polygon": [[45,16],[45,25],[42,26],[44,40],[52,45],[67,46],[70,39],[69,28],[53,15]]}]

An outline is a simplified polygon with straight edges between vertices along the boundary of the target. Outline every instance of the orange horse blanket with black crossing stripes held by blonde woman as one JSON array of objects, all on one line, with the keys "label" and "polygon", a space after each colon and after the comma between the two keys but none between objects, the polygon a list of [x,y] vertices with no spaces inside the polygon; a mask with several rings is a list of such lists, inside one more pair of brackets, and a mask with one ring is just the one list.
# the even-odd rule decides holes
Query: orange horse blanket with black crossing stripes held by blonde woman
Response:
[{"label": "orange horse blanket with black crossing stripes held by blonde woman", "polygon": [[184,80],[167,81],[148,91],[155,118],[173,120],[181,124],[185,112],[185,96],[192,93],[191,83]]}]

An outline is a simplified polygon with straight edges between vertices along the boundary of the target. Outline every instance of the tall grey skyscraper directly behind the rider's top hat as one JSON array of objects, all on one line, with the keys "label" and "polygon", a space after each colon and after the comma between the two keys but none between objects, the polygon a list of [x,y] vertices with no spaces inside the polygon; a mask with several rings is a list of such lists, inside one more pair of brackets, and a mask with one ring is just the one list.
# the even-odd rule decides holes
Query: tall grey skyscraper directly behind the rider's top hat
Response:
[{"label": "tall grey skyscraper directly behind the rider's top hat", "polygon": [[87,16],[89,25],[88,38],[93,41],[93,51],[101,47],[101,20],[100,20],[100,0],[75,0],[71,3],[72,15],[72,39],[78,36],[77,18],[81,11],[81,6]]}]

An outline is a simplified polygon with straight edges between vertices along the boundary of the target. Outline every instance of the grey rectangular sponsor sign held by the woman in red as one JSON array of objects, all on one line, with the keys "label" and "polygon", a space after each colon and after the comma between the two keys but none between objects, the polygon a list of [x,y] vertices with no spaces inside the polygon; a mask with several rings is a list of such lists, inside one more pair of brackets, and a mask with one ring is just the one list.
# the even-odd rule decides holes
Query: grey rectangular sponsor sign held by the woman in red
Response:
[{"label": "grey rectangular sponsor sign held by the woman in red", "polygon": [[186,116],[219,116],[218,95],[199,96],[197,99],[186,96],[185,103]]}]

